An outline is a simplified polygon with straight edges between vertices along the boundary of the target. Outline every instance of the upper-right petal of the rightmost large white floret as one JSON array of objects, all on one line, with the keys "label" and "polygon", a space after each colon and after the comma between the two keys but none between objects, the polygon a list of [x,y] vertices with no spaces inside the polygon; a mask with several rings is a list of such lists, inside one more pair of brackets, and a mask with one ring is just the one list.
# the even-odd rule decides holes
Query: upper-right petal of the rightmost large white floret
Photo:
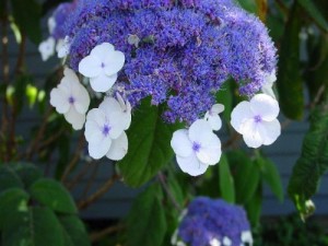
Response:
[{"label": "upper-right petal of the rightmost large white floret", "polygon": [[271,121],[279,115],[279,104],[269,95],[257,94],[249,103],[253,114],[259,115],[263,120]]}]

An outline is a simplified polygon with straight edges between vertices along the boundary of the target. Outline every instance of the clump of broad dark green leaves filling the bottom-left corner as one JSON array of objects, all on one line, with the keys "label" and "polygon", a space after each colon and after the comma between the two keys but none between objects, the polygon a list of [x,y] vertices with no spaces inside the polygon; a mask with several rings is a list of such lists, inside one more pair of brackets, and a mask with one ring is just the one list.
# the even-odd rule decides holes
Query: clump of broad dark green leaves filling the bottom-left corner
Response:
[{"label": "clump of broad dark green leaves filling the bottom-left corner", "polygon": [[2,164],[0,188],[2,246],[90,245],[69,192],[32,164]]}]

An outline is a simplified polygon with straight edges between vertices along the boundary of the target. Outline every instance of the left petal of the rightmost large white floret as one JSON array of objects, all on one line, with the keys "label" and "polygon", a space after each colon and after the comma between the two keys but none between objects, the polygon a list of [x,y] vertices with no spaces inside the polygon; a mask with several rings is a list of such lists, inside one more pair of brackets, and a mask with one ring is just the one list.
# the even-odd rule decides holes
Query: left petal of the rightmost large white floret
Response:
[{"label": "left petal of the rightmost large white floret", "polygon": [[231,113],[231,125],[237,132],[243,134],[241,131],[243,124],[250,118],[253,119],[253,117],[249,102],[241,102]]}]

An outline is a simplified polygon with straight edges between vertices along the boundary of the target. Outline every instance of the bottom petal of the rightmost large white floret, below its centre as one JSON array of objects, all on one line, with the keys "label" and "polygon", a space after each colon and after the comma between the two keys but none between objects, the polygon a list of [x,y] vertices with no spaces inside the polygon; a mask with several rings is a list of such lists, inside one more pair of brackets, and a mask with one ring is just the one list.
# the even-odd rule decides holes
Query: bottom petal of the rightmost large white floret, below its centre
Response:
[{"label": "bottom petal of the rightmost large white floret, below its centre", "polygon": [[263,144],[263,139],[259,132],[258,125],[253,120],[248,119],[242,126],[243,138],[247,147],[259,148]]}]

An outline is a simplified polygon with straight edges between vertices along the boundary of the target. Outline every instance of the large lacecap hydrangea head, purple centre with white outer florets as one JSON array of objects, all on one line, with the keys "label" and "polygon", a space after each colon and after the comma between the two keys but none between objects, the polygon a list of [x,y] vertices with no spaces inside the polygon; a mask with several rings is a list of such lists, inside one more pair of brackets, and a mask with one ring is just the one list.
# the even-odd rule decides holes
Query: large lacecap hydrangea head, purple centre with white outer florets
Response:
[{"label": "large lacecap hydrangea head, purple centre with white outer florets", "polygon": [[[79,0],[59,5],[52,16],[60,23],[51,35],[65,40],[58,56],[66,57],[67,72],[86,78],[90,92],[106,93],[96,110],[69,114],[79,129],[86,119],[92,157],[124,157],[127,128],[119,120],[130,118],[140,101],[151,97],[151,104],[164,104],[163,120],[187,126],[171,141],[183,172],[204,173],[221,157],[221,141],[213,131],[221,128],[224,107],[215,94],[230,78],[241,95],[251,98],[232,113],[232,127],[246,144],[268,145],[280,134],[271,89],[277,50],[265,25],[233,0]],[[51,101],[56,109],[67,109],[59,98],[74,98],[69,105],[79,108],[79,98],[65,84],[58,86],[58,98]],[[265,94],[257,94],[260,91]]]}]

